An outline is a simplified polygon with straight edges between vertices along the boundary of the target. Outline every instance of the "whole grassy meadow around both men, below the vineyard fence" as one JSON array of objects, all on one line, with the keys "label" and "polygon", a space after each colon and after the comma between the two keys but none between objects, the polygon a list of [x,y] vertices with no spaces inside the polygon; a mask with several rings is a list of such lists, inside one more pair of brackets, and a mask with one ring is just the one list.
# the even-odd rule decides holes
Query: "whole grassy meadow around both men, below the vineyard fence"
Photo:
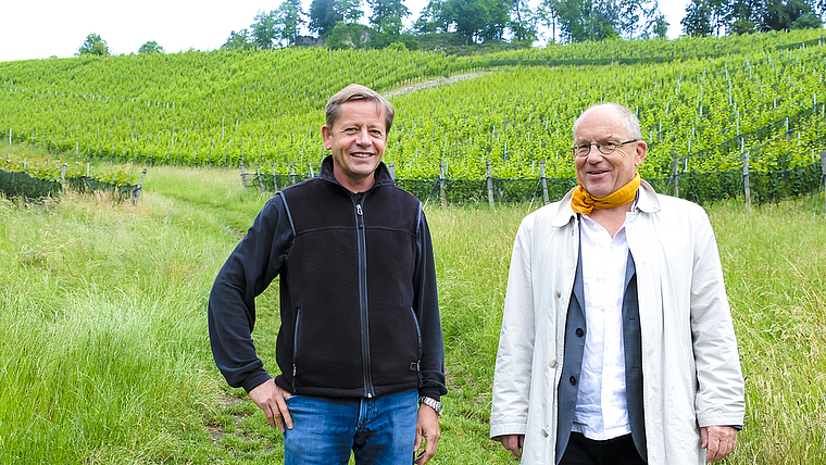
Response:
[{"label": "whole grassy meadow around both men, below the vineyard fence", "polygon": [[[263,200],[237,172],[151,168],[137,206],[0,200],[0,463],[277,463],[280,435],[214,367],[212,280]],[[534,204],[427,205],[450,394],[434,464],[515,463],[487,439],[513,235]],[[823,193],[706,205],[747,376],[729,464],[826,463]],[[275,370],[275,291],[254,338]]]}]

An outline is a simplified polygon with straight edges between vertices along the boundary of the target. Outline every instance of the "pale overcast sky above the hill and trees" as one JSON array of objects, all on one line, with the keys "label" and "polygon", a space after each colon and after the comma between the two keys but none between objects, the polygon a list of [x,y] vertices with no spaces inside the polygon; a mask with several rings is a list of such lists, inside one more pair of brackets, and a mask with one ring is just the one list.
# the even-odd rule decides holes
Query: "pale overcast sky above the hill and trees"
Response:
[{"label": "pale overcast sky above the hill and trees", "polygon": [[[259,11],[278,8],[281,0],[13,0],[0,7],[0,61],[73,56],[86,36],[96,33],[112,53],[134,53],[154,40],[167,53],[214,50],[230,32],[248,28]],[[304,11],[311,0],[303,0]],[[531,4],[538,0],[531,1]],[[366,2],[365,2],[366,3]],[[408,23],[418,17],[427,0],[405,0]],[[679,21],[689,0],[661,0],[671,27],[680,35]]]}]

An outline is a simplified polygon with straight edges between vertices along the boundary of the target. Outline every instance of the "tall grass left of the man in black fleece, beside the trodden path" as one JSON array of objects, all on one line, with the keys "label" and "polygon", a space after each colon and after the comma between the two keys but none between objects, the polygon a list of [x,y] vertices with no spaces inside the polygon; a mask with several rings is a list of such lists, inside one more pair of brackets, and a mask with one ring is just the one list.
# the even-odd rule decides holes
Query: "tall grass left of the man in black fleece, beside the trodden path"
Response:
[{"label": "tall grass left of the man in black fleece, beside the trodden path", "polygon": [[0,463],[157,463],[203,429],[204,302],[231,246],[192,217],[152,193],[0,203]]}]

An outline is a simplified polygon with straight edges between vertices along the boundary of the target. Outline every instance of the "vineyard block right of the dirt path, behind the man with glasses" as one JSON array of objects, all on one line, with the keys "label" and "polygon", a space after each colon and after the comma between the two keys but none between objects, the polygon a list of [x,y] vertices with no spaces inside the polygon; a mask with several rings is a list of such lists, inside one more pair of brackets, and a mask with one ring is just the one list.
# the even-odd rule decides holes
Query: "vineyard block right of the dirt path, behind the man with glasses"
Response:
[{"label": "vineyard block right of the dirt path, behind the man with glasses", "polygon": [[414,169],[413,177],[435,176],[439,161],[452,177],[478,176],[486,160],[501,177],[535,176],[542,159],[550,174],[572,176],[573,122],[593,103],[616,101],[639,115],[651,147],[646,176],[669,174],[675,155],[688,171],[738,167],[743,150],[787,134],[793,147],[783,143],[783,158],[752,154],[753,167],[805,165],[814,161],[811,149],[824,144],[815,139],[826,128],[824,96],[819,103],[816,96],[825,52],[817,46],[669,63],[506,67],[395,98],[400,114],[421,116],[400,120],[408,133],[391,135],[388,159]]}]

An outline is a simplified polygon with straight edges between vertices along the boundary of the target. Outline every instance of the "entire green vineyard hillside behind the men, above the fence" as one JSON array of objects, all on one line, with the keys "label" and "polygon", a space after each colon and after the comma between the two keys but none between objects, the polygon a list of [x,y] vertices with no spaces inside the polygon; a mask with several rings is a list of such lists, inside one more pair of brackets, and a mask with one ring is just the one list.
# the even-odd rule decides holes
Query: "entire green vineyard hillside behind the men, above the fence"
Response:
[{"label": "entire green vineyard hillside behind the men, above the fence", "polygon": [[[552,45],[474,56],[399,49],[190,51],[0,63],[0,137],[121,163],[259,164],[306,175],[323,156],[329,95],[401,93],[385,161],[400,179],[573,177],[571,128],[587,106],[636,111],[646,178],[803,168],[826,147],[824,33]],[[819,96],[818,96],[819,92]]]}]

